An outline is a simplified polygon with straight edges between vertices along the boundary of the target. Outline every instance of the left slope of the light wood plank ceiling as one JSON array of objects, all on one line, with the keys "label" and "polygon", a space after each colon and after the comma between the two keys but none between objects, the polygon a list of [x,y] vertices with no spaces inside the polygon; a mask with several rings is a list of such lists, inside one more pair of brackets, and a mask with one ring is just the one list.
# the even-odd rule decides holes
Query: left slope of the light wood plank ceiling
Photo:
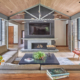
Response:
[{"label": "left slope of the light wood plank ceiling", "polygon": [[[38,4],[39,0],[0,0],[0,2],[0,6],[2,7],[0,8],[0,13],[10,16]],[[12,13],[10,13],[11,11]]]}]

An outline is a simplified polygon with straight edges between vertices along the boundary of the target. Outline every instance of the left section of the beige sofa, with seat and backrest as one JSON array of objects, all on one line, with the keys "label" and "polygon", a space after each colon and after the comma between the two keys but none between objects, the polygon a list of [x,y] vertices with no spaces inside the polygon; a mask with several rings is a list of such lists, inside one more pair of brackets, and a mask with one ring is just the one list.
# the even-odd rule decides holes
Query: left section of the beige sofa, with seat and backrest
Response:
[{"label": "left section of the beige sofa, with seat and backrest", "polygon": [[4,63],[11,63],[16,57],[18,57],[18,50],[7,49],[6,45],[3,45],[0,46],[0,56],[5,60]]}]

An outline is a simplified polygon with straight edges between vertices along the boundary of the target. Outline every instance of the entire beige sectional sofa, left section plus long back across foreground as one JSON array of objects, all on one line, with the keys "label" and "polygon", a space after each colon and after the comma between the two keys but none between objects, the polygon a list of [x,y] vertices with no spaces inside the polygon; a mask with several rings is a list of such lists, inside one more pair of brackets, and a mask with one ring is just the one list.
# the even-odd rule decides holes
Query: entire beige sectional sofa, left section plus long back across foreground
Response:
[{"label": "entire beige sectional sofa, left section plus long back across foreground", "polygon": [[3,73],[46,73],[47,69],[64,68],[71,71],[80,71],[80,65],[40,65],[40,64],[9,64],[18,57],[17,50],[8,50],[6,45],[0,46],[0,55],[3,56],[5,63],[0,66],[0,74]]}]

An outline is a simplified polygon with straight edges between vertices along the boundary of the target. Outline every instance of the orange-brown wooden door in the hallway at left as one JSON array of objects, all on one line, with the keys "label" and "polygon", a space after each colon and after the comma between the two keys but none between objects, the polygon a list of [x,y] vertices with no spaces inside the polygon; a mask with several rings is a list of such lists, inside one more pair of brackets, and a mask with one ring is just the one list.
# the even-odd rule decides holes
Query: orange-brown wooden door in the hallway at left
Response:
[{"label": "orange-brown wooden door in the hallway at left", "polygon": [[8,27],[8,43],[13,44],[14,42],[14,26]]}]

